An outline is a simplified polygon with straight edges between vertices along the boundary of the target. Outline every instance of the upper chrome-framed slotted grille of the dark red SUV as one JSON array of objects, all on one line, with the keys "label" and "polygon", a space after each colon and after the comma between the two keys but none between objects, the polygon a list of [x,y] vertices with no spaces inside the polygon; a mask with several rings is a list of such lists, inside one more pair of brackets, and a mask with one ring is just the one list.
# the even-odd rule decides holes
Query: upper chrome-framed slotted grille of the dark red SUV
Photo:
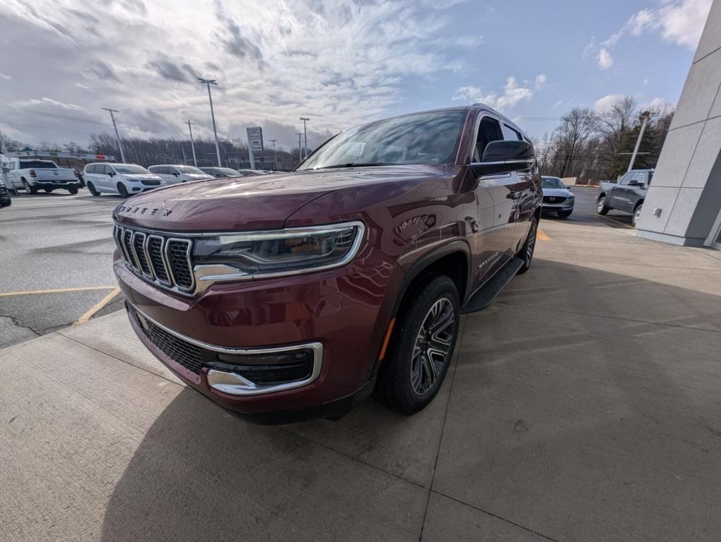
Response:
[{"label": "upper chrome-framed slotted grille of the dark red SUV", "polygon": [[195,289],[190,261],[192,240],[146,234],[117,224],[113,237],[123,261],[136,275],[166,288],[175,287],[184,294]]}]

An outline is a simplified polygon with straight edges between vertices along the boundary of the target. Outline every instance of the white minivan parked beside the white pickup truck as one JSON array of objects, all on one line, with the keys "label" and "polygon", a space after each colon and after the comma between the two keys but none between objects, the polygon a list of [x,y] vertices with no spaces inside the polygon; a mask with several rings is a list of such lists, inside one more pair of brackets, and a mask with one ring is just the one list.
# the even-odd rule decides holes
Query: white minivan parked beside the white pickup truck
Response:
[{"label": "white minivan parked beside the white pickup truck", "polygon": [[126,198],[165,183],[159,176],[134,163],[89,163],[83,174],[90,194],[120,194]]}]

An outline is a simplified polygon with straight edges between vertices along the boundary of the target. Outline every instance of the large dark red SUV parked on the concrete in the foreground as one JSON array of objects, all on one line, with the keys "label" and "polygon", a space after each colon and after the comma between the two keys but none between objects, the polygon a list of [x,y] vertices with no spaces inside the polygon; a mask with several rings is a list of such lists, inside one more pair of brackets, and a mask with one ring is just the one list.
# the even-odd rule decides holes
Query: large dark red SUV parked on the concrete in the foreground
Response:
[{"label": "large dark red SUV parked on the concrete in the foreground", "polygon": [[461,312],[531,265],[528,137],[483,105],[379,120],[291,173],[139,194],[115,209],[115,274],[143,343],[250,420],[338,417],[375,390],[428,405]]}]

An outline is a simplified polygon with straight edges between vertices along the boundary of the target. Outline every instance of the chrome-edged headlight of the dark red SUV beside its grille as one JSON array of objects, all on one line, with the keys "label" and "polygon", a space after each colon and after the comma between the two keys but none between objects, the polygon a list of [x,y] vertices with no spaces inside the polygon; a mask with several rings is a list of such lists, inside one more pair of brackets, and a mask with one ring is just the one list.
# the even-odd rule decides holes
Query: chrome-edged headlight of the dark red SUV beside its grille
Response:
[{"label": "chrome-edged headlight of the dark red SUV beside its grille", "polygon": [[242,274],[281,276],[340,267],[358,253],[363,222],[222,234],[198,239],[197,265],[225,265]]}]

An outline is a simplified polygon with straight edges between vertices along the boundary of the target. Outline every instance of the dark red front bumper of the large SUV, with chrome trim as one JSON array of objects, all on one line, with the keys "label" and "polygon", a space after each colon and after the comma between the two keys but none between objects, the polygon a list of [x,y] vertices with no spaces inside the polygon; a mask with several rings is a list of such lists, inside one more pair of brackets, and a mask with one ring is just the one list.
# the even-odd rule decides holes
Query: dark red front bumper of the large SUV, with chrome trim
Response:
[{"label": "dark red front bumper of the large SUV, with chrome trim", "polygon": [[[358,258],[357,258],[358,259]],[[133,318],[143,344],[190,387],[219,405],[261,423],[339,416],[372,390],[373,369],[402,271],[380,251],[364,250],[362,264],[314,274],[215,284],[199,297],[167,292],[133,274],[115,255],[115,274],[128,304],[149,320],[211,350],[302,348],[317,344],[318,370],[301,385],[236,394],[231,378],[215,379],[213,363],[188,368],[177,351],[161,348]],[[381,273],[380,269],[393,268]],[[183,361],[180,363],[179,361]],[[227,371],[232,372],[232,371]],[[228,384],[224,387],[218,384]]]}]

